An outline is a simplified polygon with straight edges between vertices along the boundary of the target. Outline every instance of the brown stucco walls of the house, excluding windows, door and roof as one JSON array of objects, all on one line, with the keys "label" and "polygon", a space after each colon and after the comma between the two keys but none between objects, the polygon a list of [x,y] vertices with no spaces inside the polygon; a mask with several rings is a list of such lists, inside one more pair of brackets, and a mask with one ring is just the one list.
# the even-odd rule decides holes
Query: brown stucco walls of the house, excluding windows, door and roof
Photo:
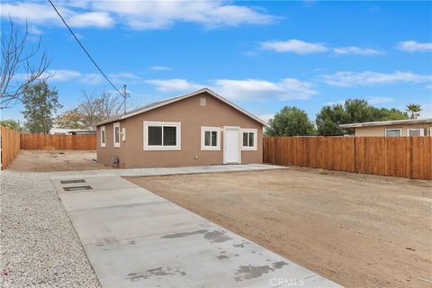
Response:
[{"label": "brown stucco walls of the house, excluding windows, door and roof", "polygon": [[[200,98],[203,96],[206,98],[205,106],[200,105]],[[181,122],[181,150],[144,150],[143,121]],[[239,126],[241,129],[257,129],[257,150],[242,150],[241,162],[263,162],[263,124],[207,93],[198,94],[120,121],[120,130],[126,128],[126,141],[121,141],[120,148],[113,147],[113,123],[104,126],[105,148],[101,147],[101,127],[97,129],[97,160],[106,166],[112,166],[112,157],[119,158],[121,168],[222,164],[223,131],[220,133],[219,151],[202,151],[202,126]]]}]

